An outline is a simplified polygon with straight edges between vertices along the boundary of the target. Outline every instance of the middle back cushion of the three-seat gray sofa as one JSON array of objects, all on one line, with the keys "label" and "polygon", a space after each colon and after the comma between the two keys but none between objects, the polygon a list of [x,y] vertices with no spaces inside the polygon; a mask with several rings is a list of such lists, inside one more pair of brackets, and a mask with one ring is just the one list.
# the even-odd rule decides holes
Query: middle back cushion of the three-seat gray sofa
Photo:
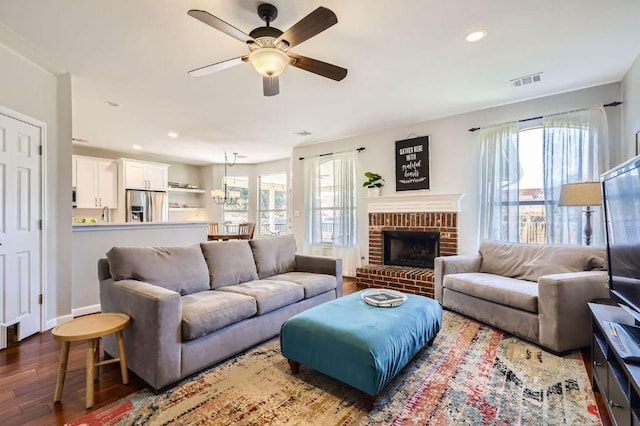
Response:
[{"label": "middle back cushion of the three-seat gray sofa", "polygon": [[209,268],[211,288],[258,279],[249,241],[211,241],[200,246]]}]

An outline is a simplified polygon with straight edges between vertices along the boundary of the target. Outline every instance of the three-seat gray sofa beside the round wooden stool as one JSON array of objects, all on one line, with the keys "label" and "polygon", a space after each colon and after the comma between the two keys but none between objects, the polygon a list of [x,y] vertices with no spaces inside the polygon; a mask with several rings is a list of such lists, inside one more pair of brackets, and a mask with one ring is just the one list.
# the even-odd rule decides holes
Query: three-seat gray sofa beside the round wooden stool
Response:
[{"label": "three-seat gray sofa beside the round wooden stool", "polygon": [[[112,248],[98,263],[100,303],[131,316],[123,331],[129,369],[158,391],[342,296],[340,259],[295,251],[290,235]],[[104,349],[117,354],[112,336]]]}]

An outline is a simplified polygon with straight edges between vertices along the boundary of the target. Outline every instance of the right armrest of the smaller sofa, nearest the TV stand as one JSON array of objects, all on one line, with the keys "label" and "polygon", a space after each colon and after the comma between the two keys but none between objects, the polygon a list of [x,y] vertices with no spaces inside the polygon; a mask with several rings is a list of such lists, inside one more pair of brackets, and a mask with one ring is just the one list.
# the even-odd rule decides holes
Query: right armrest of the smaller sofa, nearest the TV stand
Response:
[{"label": "right armrest of the smaller sofa, nearest the TV stand", "polygon": [[604,271],[541,276],[538,279],[540,343],[557,352],[588,346],[591,316],[587,303],[608,296]]}]

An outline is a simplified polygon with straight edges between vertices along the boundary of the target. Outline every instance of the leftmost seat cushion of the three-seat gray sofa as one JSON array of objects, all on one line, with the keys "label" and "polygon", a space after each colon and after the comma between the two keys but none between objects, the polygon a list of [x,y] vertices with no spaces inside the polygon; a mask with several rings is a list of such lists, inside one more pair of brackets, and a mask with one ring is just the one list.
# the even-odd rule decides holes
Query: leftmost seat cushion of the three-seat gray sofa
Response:
[{"label": "leftmost seat cushion of the three-seat gray sofa", "polygon": [[183,340],[197,339],[257,312],[256,300],[238,293],[201,291],[182,296],[180,302]]}]

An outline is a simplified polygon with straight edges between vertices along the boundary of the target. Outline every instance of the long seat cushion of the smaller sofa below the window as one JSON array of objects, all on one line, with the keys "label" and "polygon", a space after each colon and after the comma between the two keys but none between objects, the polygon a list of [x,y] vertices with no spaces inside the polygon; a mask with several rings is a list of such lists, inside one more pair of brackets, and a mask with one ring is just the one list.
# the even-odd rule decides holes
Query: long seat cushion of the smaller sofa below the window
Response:
[{"label": "long seat cushion of the smaller sofa below the window", "polygon": [[538,284],[482,272],[445,275],[443,287],[515,309],[538,312]]}]

